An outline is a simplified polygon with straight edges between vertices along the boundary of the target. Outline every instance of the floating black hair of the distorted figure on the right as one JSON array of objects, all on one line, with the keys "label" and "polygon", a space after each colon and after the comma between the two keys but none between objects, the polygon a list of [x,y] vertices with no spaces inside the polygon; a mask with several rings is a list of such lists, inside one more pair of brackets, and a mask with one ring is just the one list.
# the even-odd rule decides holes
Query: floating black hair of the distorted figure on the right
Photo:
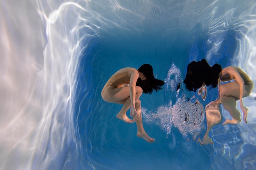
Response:
[{"label": "floating black hair of the distorted figure on the right", "polygon": [[207,86],[211,85],[213,88],[217,87],[221,70],[221,65],[214,64],[210,67],[205,59],[198,62],[192,61],[187,66],[186,78],[184,79],[186,89],[196,92],[203,83]]}]

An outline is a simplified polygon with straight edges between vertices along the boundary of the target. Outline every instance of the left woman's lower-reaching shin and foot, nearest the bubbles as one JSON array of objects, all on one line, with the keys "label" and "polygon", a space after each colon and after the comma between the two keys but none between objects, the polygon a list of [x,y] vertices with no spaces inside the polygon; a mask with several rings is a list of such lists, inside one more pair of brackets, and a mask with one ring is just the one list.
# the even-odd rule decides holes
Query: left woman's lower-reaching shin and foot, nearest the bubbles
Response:
[{"label": "left woman's lower-reaching shin and foot, nearest the bubbles", "polygon": [[155,142],[155,139],[151,138],[148,136],[148,134],[145,132],[143,124],[142,124],[142,115],[141,115],[141,102],[138,99],[135,102],[135,109],[138,113],[138,120],[136,120],[136,125],[137,125],[137,136],[143,138],[144,140],[146,140],[149,143]]}]

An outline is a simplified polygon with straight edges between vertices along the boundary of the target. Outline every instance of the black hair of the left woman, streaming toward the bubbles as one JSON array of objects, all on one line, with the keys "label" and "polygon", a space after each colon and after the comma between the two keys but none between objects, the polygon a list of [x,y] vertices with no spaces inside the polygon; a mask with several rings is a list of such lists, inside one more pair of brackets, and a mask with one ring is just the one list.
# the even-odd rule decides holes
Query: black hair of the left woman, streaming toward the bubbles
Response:
[{"label": "black hair of the left woman, streaming toward the bubbles", "polygon": [[157,92],[157,90],[162,89],[162,85],[164,85],[164,81],[158,80],[154,77],[153,67],[150,64],[143,64],[138,69],[139,72],[143,73],[146,76],[146,80],[141,80],[138,78],[136,85],[143,89],[144,93],[152,94],[153,89]]}]

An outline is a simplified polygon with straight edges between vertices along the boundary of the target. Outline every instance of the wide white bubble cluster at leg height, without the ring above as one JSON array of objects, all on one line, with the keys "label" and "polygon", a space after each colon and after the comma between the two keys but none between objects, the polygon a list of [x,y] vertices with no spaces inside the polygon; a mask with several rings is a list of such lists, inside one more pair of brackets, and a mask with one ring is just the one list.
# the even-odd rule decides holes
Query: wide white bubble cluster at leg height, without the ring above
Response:
[{"label": "wide white bubble cluster at leg height, without the ring above", "polygon": [[142,108],[144,121],[149,124],[157,124],[168,135],[172,126],[179,129],[184,136],[193,136],[195,139],[201,132],[204,121],[203,105],[195,98],[187,101],[186,96],[178,98],[175,105],[170,101],[160,106],[156,111],[148,111]]}]

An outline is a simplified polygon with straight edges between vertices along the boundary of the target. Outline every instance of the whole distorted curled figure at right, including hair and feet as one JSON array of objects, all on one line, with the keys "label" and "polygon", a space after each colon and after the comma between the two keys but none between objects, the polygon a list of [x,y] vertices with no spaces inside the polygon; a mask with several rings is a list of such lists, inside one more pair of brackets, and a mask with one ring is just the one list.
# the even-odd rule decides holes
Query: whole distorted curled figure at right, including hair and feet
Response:
[{"label": "whole distorted curled figure at right, including hair and feet", "polygon": [[[223,83],[225,82],[225,83]],[[213,126],[221,122],[222,116],[220,113],[220,105],[227,110],[232,117],[231,120],[227,119],[222,124],[238,124],[241,122],[241,114],[236,109],[236,101],[239,100],[240,109],[243,112],[243,120],[247,123],[248,109],[243,105],[243,98],[249,96],[254,87],[254,83],[249,76],[240,68],[229,66],[222,70],[221,66],[214,64],[209,66],[205,59],[195,62],[192,61],[187,67],[186,78],[184,80],[186,89],[202,95],[205,100],[207,94],[207,87],[217,87],[219,96],[215,101],[211,101],[205,107],[205,115],[207,120],[207,131],[200,144],[213,144],[209,138],[209,131]],[[204,95],[202,94],[202,91]]]}]

